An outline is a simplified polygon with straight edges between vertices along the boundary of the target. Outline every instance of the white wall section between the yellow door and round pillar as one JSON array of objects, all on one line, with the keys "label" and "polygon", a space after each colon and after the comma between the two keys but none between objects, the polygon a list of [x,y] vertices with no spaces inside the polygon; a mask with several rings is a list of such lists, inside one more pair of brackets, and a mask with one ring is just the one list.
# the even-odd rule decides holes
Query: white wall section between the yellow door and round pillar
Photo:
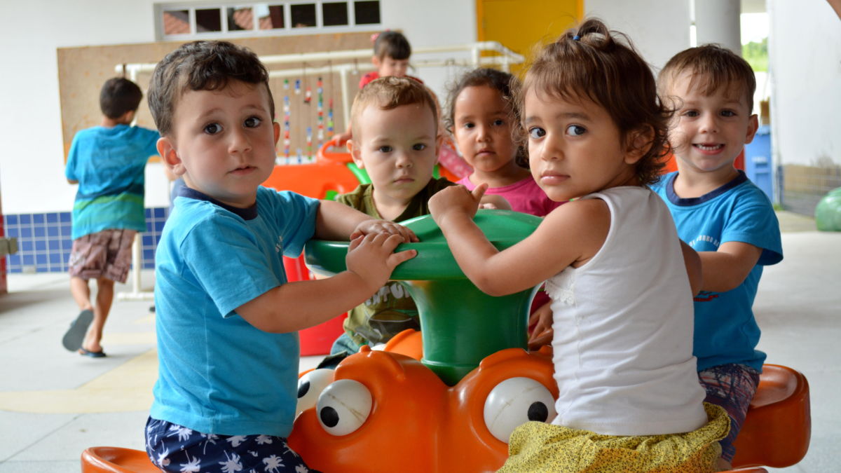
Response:
[{"label": "white wall section between the yellow door and round pillar", "polygon": [[630,36],[655,73],[671,56],[690,46],[689,0],[585,0],[584,15],[595,16]]}]

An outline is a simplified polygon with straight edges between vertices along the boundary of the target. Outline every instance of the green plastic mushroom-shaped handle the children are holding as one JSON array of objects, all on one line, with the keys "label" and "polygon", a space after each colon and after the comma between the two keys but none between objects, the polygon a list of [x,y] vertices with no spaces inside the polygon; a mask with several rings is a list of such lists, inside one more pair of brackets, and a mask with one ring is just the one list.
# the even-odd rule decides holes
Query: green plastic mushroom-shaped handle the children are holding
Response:
[{"label": "green plastic mushroom-shaped handle the children are holding", "polygon": [[[541,219],[510,210],[479,210],[473,219],[495,247],[505,249],[532,234]],[[484,294],[464,275],[431,215],[403,225],[421,240],[395,251],[414,248],[415,258],[394,268],[415,300],[421,317],[423,359],[447,385],[455,385],[489,354],[505,348],[527,348],[529,308],[539,284],[516,294]],[[320,274],[344,271],[348,242],[311,240],[306,262]]]}]

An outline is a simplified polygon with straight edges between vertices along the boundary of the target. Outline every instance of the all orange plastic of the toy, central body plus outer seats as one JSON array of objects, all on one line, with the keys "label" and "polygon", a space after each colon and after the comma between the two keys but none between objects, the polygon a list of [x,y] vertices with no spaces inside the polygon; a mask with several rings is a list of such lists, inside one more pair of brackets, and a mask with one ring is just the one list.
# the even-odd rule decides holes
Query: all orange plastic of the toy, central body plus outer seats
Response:
[{"label": "all orange plastic of the toy, central body plus outer seats", "polygon": [[[410,347],[413,333],[404,333],[395,344]],[[315,409],[309,409],[296,419],[289,445],[323,471],[495,470],[505,461],[507,445],[484,427],[483,401],[494,385],[512,376],[553,386],[547,350],[502,350],[448,387],[416,359],[363,348],[336,368],[334,380],[357,380],[371,391],[373,407],[365,423],[334,436],[325,433]],[[807,452],[811,427],[806,377],[785,366],[764,365],[730,471],[767,473],[752,465],[795,465]],[[155,466],[140,450],[91,447],[82,452],[82,473],[151,471]]]}]

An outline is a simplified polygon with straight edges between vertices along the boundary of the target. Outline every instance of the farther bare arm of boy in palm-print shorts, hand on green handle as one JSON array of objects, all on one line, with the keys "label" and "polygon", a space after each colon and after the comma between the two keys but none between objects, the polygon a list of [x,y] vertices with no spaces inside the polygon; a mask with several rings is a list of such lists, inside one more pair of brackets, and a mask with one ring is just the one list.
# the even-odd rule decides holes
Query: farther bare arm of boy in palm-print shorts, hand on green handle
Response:
[{"label": "farther bare arm of boy in palm-print shorts, hand on green handle", "polygon": [[315,237],[320,240],[344,241],[359,235],[387,233],[400,235],[404,242],[417,242],[415,232],[392,221],[372,219],[359,210],[332,200],[322,200],[315,217]]}]

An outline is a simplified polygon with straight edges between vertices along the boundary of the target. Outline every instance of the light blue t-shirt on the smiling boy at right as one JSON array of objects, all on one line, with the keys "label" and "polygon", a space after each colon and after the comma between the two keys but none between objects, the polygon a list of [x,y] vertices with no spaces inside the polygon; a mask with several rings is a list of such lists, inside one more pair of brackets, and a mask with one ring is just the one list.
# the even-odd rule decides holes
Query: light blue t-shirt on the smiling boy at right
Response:
[{"label": "light blue t-shirt on the smiling boy at right", "polygon": [[747,364],[762,370],[765,353],[755,349],[759,327],[754,298],[763,266],[780,263],[780,224],[768,197],[742,171],[733,181],[694,199],[674,194],[669,173],[652,186],[664,199],[678,236],[696,252],[714,252],[724,242],[745,242],[762,248],[759,262],[742,284],[727,292],[701,291],[695,297],[695,344],[698,370],[719,364]]}]

